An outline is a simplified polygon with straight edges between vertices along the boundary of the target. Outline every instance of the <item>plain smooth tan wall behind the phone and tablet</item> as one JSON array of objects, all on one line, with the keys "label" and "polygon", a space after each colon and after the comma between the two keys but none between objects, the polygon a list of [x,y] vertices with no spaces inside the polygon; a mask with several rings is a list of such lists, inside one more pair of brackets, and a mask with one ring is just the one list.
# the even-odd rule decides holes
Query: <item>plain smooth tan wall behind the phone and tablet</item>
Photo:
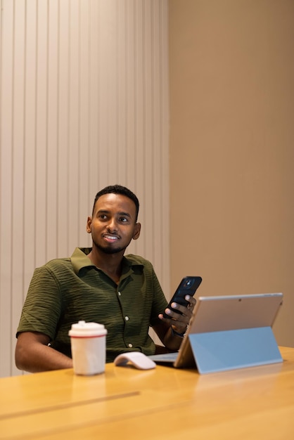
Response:
[{"label": "plain smooth tan wall behind the phone and tablet", "polygon": [[283,292],[294,346],[294,1],[169,5],[172,288]]}]

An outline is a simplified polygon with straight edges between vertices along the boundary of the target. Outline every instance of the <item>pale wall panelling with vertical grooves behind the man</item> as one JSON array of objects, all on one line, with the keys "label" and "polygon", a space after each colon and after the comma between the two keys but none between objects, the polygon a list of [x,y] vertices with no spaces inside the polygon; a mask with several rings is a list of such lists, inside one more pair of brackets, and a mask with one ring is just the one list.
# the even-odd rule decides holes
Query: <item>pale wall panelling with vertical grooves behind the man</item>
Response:
[{"label": "pale wall panelling with vertical grooves behind the man", "polygon": [[97,190],[139,196],[169,294],[167,0],[1,0],[0,375],[34,267],[90,245]]}]

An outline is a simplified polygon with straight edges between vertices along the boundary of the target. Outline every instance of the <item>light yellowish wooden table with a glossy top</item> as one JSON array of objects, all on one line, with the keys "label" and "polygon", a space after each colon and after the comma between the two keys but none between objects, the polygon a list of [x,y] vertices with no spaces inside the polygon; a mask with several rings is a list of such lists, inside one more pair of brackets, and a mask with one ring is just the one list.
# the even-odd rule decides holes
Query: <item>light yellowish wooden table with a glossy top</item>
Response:
[{"label": "light yellowish wooden table with a glossy top", "polygon": [[294,439],[294,349],[283,363],[199,375],[106,365],[0,379],[0,439]]}]

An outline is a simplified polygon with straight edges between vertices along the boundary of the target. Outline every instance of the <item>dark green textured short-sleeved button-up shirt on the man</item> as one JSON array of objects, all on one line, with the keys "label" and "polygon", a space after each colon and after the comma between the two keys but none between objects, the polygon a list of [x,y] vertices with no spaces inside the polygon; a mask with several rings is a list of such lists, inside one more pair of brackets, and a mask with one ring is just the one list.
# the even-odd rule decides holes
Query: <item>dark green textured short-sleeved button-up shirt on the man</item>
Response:
[{"label": "dark green textured short-sleeved button-up shirt on the man", "polygon": [[[70,258],[53,259],[36,268],[30,283],[17,332],[40,332],[51,347],[71,356],[68,331],[78,321],[105,325],[106,361],[124,351],[154,354],[149,327],[167,300],[152,264],[129,254],[122,260],[118,285],[87,254],[76,248]],[[17,334],[18,334],[17,333]]]}]

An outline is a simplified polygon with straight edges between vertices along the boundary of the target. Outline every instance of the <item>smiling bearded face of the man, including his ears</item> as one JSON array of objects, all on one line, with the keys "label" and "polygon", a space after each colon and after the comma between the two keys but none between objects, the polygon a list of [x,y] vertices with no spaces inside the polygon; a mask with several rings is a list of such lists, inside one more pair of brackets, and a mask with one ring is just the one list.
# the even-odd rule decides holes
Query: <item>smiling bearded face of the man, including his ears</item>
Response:
[{"label": "smiling bearded face of the man, including his ears", "polygon": [[101,195],[87,221],[93,245],[106,254],[124,252],[132,239],[139,238],[140,228],[134,202],[120,194]]}]

